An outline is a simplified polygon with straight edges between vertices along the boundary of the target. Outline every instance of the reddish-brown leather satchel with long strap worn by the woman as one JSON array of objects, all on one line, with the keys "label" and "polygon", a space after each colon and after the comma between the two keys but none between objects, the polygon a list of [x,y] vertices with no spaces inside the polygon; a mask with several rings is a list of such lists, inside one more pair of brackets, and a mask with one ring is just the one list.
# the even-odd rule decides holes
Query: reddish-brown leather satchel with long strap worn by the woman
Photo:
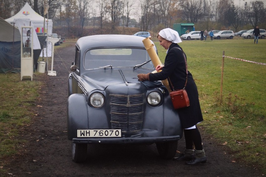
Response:
[{"label": "reddish-brown leather satchel with long strap worn by the woman", "polygon": [[[175,47],[175,48],[178,48],[178,47]],[[178,48],[178,49],[180,49],[180,48]],[[188,66],[187,66],[187,61],[186,61],[184,52],[183,52],[183,56],[184,56],[184,59],[185,59],[186,72],[187,72],[186,82],[185,82],[185,87],[186,87],[187,80],[188,80]],[[172,90],[173,90],[173,91],[170,92],[170,97],[171,97],[171,100],[172,100],[174,108],[175,109],[180,109],[180,108],[184,108],[184,107],[190,106],[188,94],[187,94],[187,91],[185,90],[185,87],[183,89],[181,89],[181,90],[175,90],[170,78],[168,78],[168,79],[170,81],[170,84],[171,84],[171,87],[172,87]]]}]

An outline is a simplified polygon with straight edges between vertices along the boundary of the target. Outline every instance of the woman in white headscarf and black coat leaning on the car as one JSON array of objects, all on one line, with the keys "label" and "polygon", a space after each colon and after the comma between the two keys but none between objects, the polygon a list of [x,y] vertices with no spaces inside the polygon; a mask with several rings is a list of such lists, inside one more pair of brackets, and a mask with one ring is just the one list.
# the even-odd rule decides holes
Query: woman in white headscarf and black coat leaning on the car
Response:
[{"label": "woman in white headscarf and black coat leaning on the car", "polygon": [[[162,81],[170,79],[175,90],[183,89],[186,81],[186,66],[182,48],[177,44],[182,42],[178,32],[166,28],[159,32],[157,36],[160,45],[167,50],[165,57],[165,65],[155,67],[157,73],[138,74],[140,81]],[[173,48],[175,47],[175,48]],[[178,49],[178,48],[180,49]],[[203,121],[202,113],[199,105],[199,96],[197,86],[192,75],[188,71],[186,91],[190,100],[190,106],[177,109],[182,128],[184,129],[186,149],[184,154],[175,157],[173,160],[185,160],[187,165],[196,165],[205,163],[206,156],[202,148],[201,135],[196,126],[197,123]],[[193,144],[195,150],[193,150]],[[194,155],[195,152],[195,155]]]}]

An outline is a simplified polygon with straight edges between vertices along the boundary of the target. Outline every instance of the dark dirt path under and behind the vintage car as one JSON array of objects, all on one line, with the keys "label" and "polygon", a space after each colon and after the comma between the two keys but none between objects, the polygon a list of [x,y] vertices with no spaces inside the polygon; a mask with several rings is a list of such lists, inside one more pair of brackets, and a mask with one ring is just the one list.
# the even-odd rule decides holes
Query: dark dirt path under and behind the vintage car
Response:
[{"label": "dark dirt path under and behind the vintage car", "polygon": [[[71,142],[66,132],[67,79],[75,46],[55,51],[54,71],[57,76],[40,75],[33,80],[42,81],[40,97],[33,110],[37,116],[31,125],[23,127],[19,155],[4,166],[10,174],[0,176],[198,176],[232,177],[262,176],[258,170],[230,155],[222,145],[204,135],[201,127],[207,163],[196,166],[159,158],[155,145],[88,145],[86,162],[77,164],[71,159]],[[184,138],[178,150],[184,150]]]}]

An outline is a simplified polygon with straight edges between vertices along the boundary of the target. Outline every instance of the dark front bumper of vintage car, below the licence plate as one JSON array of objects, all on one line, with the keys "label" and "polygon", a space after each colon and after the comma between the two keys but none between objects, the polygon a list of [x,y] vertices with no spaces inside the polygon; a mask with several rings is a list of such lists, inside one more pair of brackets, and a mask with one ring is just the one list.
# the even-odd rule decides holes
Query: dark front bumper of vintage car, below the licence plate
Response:
[{"label": "dark front bumper of vintage car, below the licence plate", "polygon": [[121,138],[73,138],[78,144],[152,144],[180,140],[179,135],[162,137],[121,137]]}]

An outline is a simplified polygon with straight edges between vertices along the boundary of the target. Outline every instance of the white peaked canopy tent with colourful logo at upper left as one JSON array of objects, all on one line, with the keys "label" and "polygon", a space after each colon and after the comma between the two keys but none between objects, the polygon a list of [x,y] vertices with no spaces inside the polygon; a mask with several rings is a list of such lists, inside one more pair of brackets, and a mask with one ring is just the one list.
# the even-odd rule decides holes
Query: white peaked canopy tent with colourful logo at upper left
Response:
[{"label": "white peaked canopy tent with colourful logo at upper left", "polygon": [[[44,17],[37,14],[27,2],[16,15],[5,19],[5,21],[11,23],[12,25],[15,23],[15,27],[19,26],[18,23],[20,20],[29,21],[30,24],[34,26],[35,31],[37,33],[45,32],[48,35],[52,35],[52,27],[53,27],[52,19],[47,19],[47,18],[44,19]],[[45,20],[45,26],[44,26],[44,20]],[[47,45],[47,57],[51,56],[52,56],[52,43],[49,42]],[[44,48],[44,57],[46,57],[46,48]]]}]

